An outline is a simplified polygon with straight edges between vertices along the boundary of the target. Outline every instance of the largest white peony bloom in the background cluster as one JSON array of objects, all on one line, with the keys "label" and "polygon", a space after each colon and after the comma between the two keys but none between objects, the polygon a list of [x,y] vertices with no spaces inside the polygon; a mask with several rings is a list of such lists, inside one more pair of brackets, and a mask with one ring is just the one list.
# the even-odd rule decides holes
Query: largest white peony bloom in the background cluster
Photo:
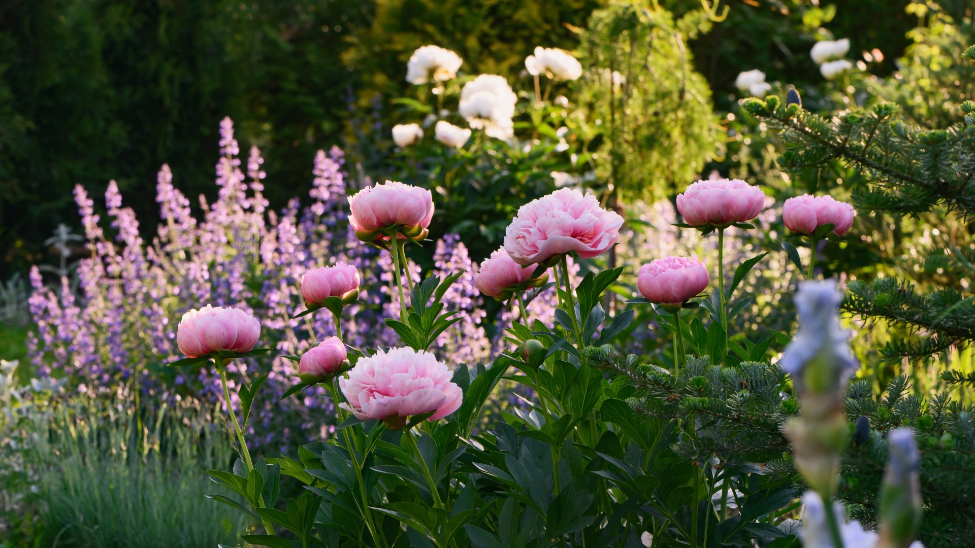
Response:
[{"label": "largest white peony bloom in the background cluster", "polygon": [[464,84],[457,111],[472,128],[484,128],[487,137],[509,139],[515,135],[515,103],[518,96],[503,76],[482,74]]}]

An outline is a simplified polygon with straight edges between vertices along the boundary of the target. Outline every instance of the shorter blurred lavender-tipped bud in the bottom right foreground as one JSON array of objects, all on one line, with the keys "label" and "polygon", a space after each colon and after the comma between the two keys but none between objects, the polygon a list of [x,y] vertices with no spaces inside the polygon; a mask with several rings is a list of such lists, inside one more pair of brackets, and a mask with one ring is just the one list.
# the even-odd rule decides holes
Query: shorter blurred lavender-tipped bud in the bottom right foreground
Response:
[{"label": "shorter blurred lavender-tipped bud in the bottom right foreground", "polygon": [[887,440],[890,451],[880,486],[880,537],[884,546],[906,548],[920,527],[920,451],[911,428],[895,428]]}]

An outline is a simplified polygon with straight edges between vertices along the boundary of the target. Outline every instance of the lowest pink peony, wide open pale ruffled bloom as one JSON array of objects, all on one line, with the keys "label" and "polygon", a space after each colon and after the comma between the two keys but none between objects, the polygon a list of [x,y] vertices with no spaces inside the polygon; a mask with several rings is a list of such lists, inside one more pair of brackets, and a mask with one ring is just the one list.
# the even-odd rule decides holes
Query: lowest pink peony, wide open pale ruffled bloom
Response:
[{"label": "lowest pink peony, wide open pale ruffled bloom", "polygon": [[339,407],[362,419],[379,418],[402,427],[406,417],[437,411],[437,420],[460,408],[463,391],[450,382],[447,365],[429,353],[412,348],[379,349],[360,358],[348,378],[338,385],[348,403]]}]

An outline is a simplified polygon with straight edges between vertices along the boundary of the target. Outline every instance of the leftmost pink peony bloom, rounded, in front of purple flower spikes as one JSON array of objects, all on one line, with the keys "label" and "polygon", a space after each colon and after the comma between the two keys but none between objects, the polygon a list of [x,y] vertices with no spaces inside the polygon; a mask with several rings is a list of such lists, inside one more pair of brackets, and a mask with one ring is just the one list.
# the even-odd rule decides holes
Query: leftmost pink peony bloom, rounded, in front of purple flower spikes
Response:
[{"label": "leftmost pink peony bloom, rounded, in front of purple flower spikes", "polygon": [[179,351],[198,358],[215,350],[250,352],[260,336],[260,322],[240,308],[211,305],[183,314],[176,329]]}]

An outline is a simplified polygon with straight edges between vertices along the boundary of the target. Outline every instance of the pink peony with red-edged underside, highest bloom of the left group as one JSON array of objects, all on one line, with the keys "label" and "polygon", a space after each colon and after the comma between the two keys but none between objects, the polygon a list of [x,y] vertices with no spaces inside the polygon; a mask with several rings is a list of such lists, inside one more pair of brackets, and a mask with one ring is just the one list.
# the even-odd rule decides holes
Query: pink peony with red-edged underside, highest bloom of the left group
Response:
[{"label": "pink peony with red-edged underside, highest bloom of the left group", "polygon": [[350,196],[349,209],[349,221],[357,233],[391,226],[425,229],[433,218],[433,194],[425,188],[387,180]]}]

